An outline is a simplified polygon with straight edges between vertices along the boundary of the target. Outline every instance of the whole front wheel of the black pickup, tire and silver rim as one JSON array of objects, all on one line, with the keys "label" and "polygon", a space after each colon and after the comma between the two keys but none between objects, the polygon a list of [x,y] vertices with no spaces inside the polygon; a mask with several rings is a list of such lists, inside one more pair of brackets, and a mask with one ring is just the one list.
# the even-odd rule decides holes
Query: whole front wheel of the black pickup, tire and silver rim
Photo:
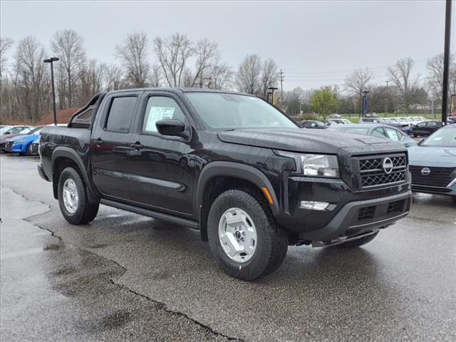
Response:
[{"label": "whole front wheel of the black pickup, tire and silver rim", "polygon": [[269,207],[249,190],[228,190],[215,199],[207,236],[219,266],[243,280],[274,272],[288,249],[288,238],[276,226]]}]

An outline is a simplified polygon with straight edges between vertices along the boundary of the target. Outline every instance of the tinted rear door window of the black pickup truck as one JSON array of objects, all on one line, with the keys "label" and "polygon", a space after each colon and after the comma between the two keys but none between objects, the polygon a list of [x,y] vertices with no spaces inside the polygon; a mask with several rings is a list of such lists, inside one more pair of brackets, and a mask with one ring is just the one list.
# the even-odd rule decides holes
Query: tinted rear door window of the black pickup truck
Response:
[{"label": "tinted rear door window of the black pickup truck", "polygon": [[113,98],[105,129],[111,132],[130,132],[130,125],[136,105],[136,96]]}]

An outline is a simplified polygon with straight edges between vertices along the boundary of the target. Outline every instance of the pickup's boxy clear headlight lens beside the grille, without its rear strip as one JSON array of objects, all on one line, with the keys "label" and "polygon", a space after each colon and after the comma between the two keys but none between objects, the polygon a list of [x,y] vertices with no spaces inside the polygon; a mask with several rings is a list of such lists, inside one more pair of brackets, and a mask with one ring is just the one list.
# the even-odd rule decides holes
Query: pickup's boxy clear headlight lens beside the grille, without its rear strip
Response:
[{"label": "pickup's boxy clear headlight lens beside the grille, without its rear strip", "polygon": [[339,177],[339,167],[335,155],[301,155],[304,176]]}]

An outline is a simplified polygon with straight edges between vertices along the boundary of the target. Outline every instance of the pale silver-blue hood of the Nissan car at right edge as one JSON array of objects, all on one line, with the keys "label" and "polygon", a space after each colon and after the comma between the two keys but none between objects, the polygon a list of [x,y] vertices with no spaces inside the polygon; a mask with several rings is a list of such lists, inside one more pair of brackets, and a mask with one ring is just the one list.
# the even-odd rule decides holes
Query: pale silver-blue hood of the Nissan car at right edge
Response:
[{"label": "pale silver-blue hood of the Nissan car at right edge", "polygon": [[408,149],[410,165],[456,167],[456,147],[413,146]]}]

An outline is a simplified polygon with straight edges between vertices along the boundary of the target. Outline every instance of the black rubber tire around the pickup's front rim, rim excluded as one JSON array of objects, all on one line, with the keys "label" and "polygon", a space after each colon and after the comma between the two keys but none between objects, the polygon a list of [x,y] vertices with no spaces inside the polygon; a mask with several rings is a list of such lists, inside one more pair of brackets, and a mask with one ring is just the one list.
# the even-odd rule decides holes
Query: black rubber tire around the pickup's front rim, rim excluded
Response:
[{"label": "black rubber tire around the pickup's front rim, rim excluded", "polygon": [[[232,207],[247,212],[257,230],[254,255],[242,263],[230,259],[219,241],[219,220]],[[207,236],[217,264],[230,276],[243,280],[254,280],[274,272],[284,261],[288,249],[288,237],[276,226],[269,207],[249,190],[228,190],[215,199],[207,219]]]}]

